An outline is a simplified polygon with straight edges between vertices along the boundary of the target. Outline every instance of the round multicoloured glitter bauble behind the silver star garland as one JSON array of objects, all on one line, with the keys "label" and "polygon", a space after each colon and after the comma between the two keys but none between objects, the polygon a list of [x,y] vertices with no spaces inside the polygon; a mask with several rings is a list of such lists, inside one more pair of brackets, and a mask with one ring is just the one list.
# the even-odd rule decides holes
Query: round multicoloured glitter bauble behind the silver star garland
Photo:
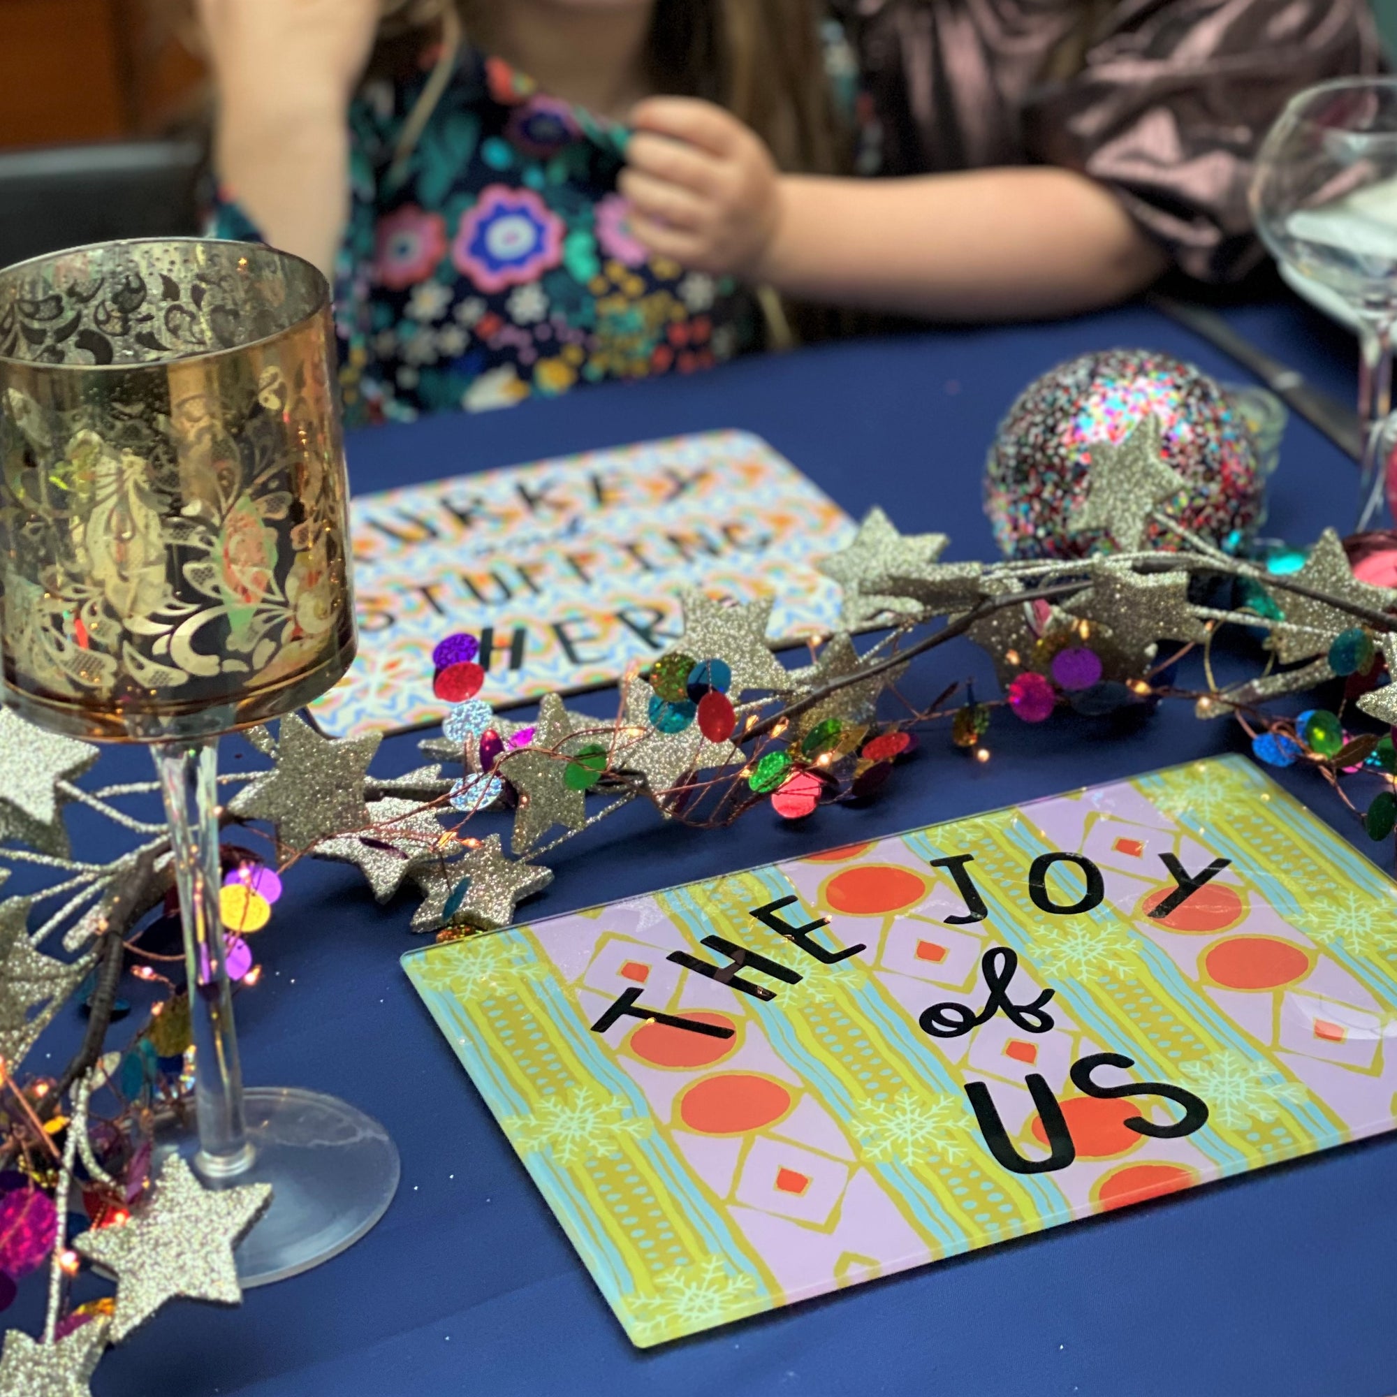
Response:
[{"label": "round multicoloured glitter bauble behind the silver star garland", "polygon": [[[1151,412],[1162,427],[1160,458],[1187,482],[1160,510],[1224,548],[1253,534],[1284,408],[1257,390],[1224,390],[1168,355],[1109,349],[1045,373],[1000,423],[985,467],[985,513],[1004,556],[1115,552],[1106,531],[1071,520],[1088,496],[1092,443],[1119,446]],[[1179,541],[1151,521],[1146,546],[1175,549]]]}]

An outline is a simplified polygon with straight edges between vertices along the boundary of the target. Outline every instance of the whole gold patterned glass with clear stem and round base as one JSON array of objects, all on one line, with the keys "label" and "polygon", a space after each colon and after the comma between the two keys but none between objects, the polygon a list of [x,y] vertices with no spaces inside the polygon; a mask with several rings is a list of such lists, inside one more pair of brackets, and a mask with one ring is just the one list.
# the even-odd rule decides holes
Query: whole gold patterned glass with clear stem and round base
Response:
[{"label": "whole gold patterned glass with clear stem and round base", "polygon": [[355,652],[330,292],[249,243],[105,243],[0,271],[0,658],[29,721],[152,747],[169,816],[211,1186],[265,1182],[244,1285],[369,1231],[398,1182],[332,1097],[243,1091],[219,915],[218,735]]}]

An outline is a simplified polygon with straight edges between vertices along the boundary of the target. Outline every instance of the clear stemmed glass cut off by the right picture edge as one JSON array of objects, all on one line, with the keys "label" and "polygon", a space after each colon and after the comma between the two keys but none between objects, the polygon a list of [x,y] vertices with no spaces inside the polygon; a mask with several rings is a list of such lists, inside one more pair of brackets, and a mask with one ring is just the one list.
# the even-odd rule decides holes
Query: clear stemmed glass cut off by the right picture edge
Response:
[{"label": "clear stemmed glass cut off by the right picture edge", "polygon": [[1397,471],[1384,460],[1397,317],[1397,78],[1338,78],[1291,98],[1261,147],[1252,215],[1282,271],[1336,292],[1359,327],[1363,429],[1356,528],[1377,518]]}]

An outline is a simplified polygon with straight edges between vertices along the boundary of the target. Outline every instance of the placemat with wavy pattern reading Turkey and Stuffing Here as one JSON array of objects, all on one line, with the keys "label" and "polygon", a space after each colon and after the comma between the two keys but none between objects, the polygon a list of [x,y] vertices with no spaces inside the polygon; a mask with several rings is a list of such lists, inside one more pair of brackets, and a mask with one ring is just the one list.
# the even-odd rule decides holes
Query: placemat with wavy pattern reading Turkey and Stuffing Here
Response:
[{"label": "placemat with wavy pattern reading Turkey and Stuffing Here", "polygon": [[351,503],[359,657],[312,704],[334,736],[440,722],[432,650],[481,644],[481,697],[615,683],[679,636],[678,595],[771,597],[775,641],[838,624],[814,560],[849,517],[766,441],[707,432],[414,485]]}]

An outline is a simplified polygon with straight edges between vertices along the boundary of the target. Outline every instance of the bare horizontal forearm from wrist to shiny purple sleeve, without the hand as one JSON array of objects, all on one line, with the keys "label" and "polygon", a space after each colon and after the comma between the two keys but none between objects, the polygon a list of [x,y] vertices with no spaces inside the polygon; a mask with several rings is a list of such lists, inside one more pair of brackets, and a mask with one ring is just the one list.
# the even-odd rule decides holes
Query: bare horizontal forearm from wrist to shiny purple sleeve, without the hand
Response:
[{"label": "bare horizontal forearm from wrist to shiny purple sleeve, without the hand", "polygon": [[1055,168],[909,179],[788,175],[759,279],[787,295],[933,319],[1052,316],[1164,271],[1102,184]]}]

